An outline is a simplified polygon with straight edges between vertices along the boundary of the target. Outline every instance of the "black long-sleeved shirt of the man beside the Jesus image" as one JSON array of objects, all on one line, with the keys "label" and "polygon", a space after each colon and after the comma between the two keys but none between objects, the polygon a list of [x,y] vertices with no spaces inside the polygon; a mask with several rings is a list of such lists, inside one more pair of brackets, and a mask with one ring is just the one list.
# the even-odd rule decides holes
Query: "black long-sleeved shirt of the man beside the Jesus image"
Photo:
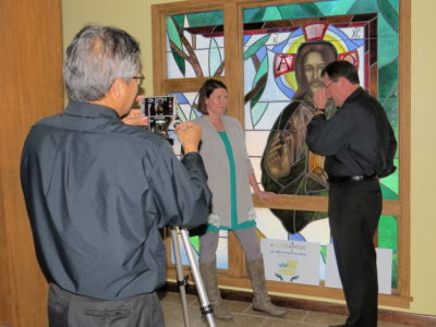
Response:
[{"label": "black long-sleeved shirt of the man beside the Jesus image", "polygon": [[397,141],[382,105],[358,88],[336,114],[315,116],[307,126],[307,146],[326,156],[329,175],[379,175],[396,170]]}]

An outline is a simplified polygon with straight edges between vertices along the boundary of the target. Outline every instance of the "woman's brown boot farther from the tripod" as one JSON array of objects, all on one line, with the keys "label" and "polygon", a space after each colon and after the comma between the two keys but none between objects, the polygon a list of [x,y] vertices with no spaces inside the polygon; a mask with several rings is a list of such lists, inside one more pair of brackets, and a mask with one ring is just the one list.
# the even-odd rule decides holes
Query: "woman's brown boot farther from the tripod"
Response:
[{"label": "woman's brown boot farther from the tripod", "polygon": [[246,267],[253,286],[253,310],[262,311],[276,317],[284,315],[287,311],[283,307],[274,305],[268,296],[265,284],[264,258],[246,261]]}]

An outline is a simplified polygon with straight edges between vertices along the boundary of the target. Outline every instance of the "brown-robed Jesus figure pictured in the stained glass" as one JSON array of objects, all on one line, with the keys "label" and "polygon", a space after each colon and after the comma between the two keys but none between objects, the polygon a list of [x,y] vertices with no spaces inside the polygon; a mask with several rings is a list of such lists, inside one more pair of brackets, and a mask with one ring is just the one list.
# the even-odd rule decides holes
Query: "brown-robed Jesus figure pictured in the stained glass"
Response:
[{"label": "brown-robed Jesus figure pictured in the stained glass", "polygon": [[[266,191],[278,194],[326,195],[327,175],[324,157],[311,153],[305,144],[307,124],[315,108],[314,93],[323,87],[320,72],[337,59],[335,47],[325,40],[303,43],[296,52],[294,72],[298,89],[269,133],[264,150],[262,184]],[[331,117],[329,105],[326,116]],[[326,213],[271,209],[289,233],[301,231],[308,222],[326,218]]]}]

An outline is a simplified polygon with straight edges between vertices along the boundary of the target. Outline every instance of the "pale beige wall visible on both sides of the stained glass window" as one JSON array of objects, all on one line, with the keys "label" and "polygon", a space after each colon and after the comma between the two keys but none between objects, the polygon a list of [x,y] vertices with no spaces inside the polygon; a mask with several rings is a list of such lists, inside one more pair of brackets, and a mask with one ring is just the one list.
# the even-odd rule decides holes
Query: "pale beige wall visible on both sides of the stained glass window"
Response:
[{"label": "pale beige wall visible on both sides of the stained glass window", "polygon": [[[199,0],[198,0],[199,1]],[[142,44],[143,71],[147,76],[145,87],[153,95],[150,4],[168,0],[62,0],[63,38],[70,43],[84,24],[116,25],[129,31]],[[411,292],[414,301],[405,312],[436,315],[435,294],[436,217],[432,210],[436,192],[436,120],[432,93],[436,92],[436,65],[431,58],[436,53],[436,43],[428,28],[436,13],[436,2],[412,0],[412,215],[411,215]],[[431,40],[431,41],[429,41]],[[433,143],[433,144],[432,144]],[[435,160],[435,161],[433,161]],[[433,196],[432,196],[433,195]],[[392,308],[396,310],[396,308]]]}]

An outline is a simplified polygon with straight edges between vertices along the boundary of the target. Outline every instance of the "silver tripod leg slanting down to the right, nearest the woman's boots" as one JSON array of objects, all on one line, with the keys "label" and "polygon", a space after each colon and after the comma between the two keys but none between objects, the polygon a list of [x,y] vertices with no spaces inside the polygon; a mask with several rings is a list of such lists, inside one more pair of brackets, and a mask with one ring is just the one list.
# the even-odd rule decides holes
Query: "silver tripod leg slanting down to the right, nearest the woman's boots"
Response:
[{"label": "silver tripod leg slanting down to the right, nearest the woman's boots", "polygon": [[[179,230],[179,228],[175,227],[175,230]],[[202,303],[201,306],[202,314],[206,317],[209,327],[215,327],[213,308],[210,306],[209,300],[207,299],[206,289],[203,283],[202,275],[199,274],[198,265],[194,258],[194,254],[192,253],[190,237],[187,234],[186,229],[181,229],[180,234],[182,237],[182,242],[187,255],[187,259],[190,261],[191,271],[194,277],[195,287],[198,292],[199,302]]]}]

